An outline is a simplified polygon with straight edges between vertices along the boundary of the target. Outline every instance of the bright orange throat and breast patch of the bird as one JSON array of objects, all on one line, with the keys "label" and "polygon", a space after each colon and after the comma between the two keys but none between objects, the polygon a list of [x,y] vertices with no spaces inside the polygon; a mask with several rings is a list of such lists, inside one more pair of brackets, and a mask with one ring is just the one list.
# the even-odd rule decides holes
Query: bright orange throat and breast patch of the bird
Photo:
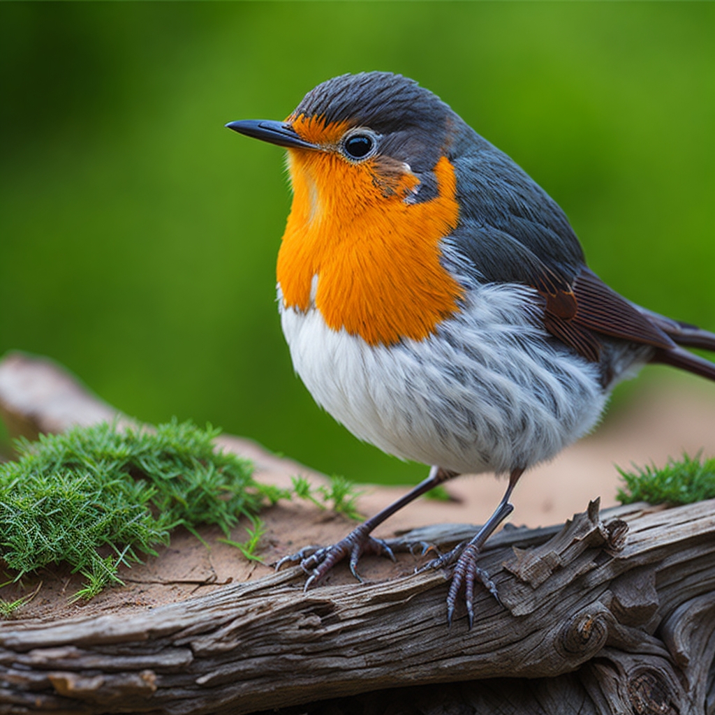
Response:
[{"label": "bright orange throat and breast patch of the bird", "polygon": [[459,217],[446,157],[434,170],[438,195],[419,203],[405,202],[418,184],[411,173],[297,151],[289,169],[293,203],[277,265],[285,307],[316,307],[333,330],[369,345],[422,340],[458,311],[463,288],[440,262],[440,240]]}]

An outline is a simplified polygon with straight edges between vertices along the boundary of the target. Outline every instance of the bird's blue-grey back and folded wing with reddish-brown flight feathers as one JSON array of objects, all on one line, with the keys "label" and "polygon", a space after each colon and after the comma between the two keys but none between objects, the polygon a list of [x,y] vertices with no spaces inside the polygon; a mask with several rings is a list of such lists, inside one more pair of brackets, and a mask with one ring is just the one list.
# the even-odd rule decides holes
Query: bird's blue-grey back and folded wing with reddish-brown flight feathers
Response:
[{"label": "bird's blue-grey back and folded wing with reddish-brown flight feathers", "polygon": [[460,222],[445,251],[460,272],[478,283],[533,288],[531,312],[587,360],[600,360],[603,336],[670,347],[659,327],[588,269],[561,207],[506,154],[478,139],[452,159]]}]

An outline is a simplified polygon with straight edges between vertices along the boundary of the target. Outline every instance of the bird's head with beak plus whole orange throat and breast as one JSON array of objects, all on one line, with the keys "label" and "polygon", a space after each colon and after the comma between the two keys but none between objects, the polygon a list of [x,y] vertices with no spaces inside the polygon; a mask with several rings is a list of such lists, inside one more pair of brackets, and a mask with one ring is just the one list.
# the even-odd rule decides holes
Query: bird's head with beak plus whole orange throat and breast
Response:
[{"label": "bird's head with beak plus whole orange throat and breast", "polygon": [[440,264],[440,240],[459,220],[448,155],[465,126],[435,94],[388,72],[329,79],[284,122],[227,124],[288,149],[285,307],[315,305],[330,327],[371,344],[425,337],[457,310],[462,289]]}]

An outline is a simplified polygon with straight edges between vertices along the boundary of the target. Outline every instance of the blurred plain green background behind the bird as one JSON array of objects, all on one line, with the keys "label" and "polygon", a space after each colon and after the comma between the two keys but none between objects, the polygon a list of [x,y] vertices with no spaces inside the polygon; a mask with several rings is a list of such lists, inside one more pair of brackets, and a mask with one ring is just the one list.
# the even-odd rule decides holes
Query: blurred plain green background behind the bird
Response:
[{"label": "blurred plain green background behind the bird", "polygon": [[50,355],[142,420],[420,478],[295,378],[282,151],[223,124],[347,71],[418,79],[561,204],[616,290],[715,330],[714,30],[709,2],[2,3],[0,353]]}]

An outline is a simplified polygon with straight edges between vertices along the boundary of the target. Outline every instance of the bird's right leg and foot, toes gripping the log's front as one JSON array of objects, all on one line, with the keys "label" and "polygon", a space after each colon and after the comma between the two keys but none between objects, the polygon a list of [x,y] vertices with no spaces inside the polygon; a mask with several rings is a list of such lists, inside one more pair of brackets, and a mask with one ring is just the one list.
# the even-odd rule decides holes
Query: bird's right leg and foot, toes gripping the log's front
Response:
[{"label": "bird's right leg and foot, toes gripping the log's front", "polygon": [[475,536],[467,543],[460,543],[449,553],[445,553],[439,558],[427,564],[425,568],[441,568],[454,563],[454,572],[452,574],[452,584],[447,595],[447,621],[452,624],[452,616],[454,614],[455,604],[457,603],[457,594],[464,583],[465,601],[467,604],[467,616],[469,618],[469,627],[472,627],[474,621],[474,582],[479,579],[483,586],[499,600],[499,594],[496,590],[495,583],[489,578],[489,574],[483,568],[477,566],[477,556],[484,546],[487,539],[494,533],[495,529],[506,519],[509,514],[514,511],[513,505],[509,503],[511,493],[519,480],[519,477],[524,473],[523,469],[515,469],[509,475],[509,484],[506,488],[504,496],[499,502],[499,506],[495,508],[494,513],[488,518],[485,525],[475,534]]}]

